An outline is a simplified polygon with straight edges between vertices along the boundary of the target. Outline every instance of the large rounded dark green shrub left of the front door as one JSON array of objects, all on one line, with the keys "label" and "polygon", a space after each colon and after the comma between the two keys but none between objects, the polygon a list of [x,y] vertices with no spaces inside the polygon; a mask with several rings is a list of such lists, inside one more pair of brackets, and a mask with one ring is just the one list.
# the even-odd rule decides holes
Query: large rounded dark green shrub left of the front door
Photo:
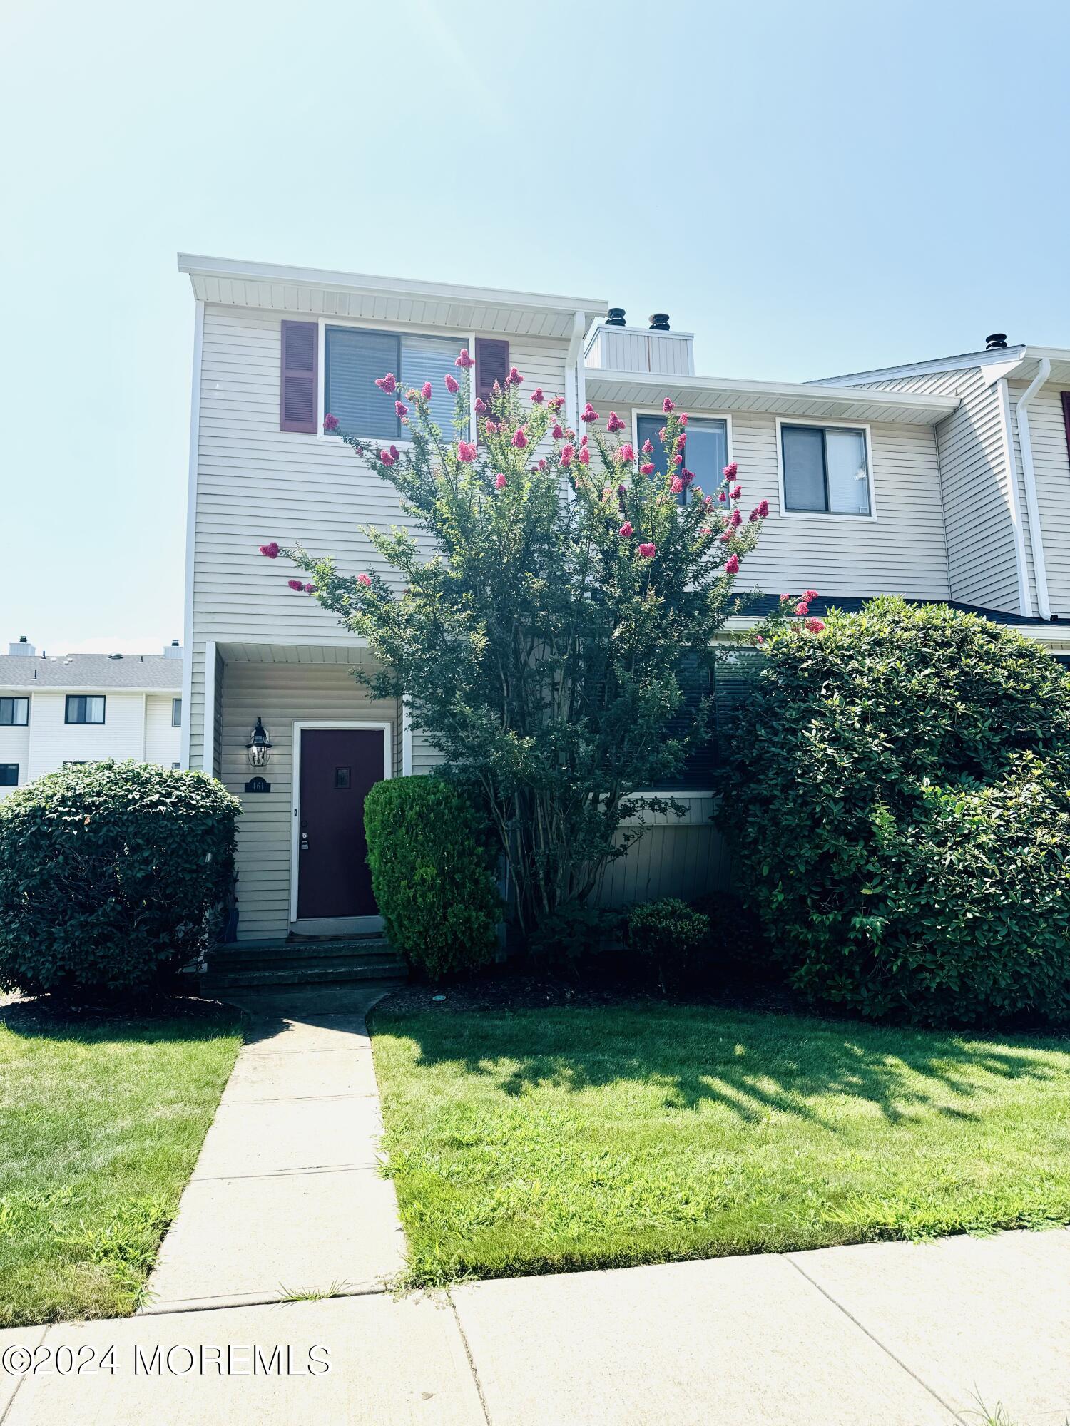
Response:
[{"label": "large rounded dark green shrub left of the front door", "polygon": [[144,994],[215,938],[237,797],[203,773],[83,763],[0,801],[0,987]]}]

